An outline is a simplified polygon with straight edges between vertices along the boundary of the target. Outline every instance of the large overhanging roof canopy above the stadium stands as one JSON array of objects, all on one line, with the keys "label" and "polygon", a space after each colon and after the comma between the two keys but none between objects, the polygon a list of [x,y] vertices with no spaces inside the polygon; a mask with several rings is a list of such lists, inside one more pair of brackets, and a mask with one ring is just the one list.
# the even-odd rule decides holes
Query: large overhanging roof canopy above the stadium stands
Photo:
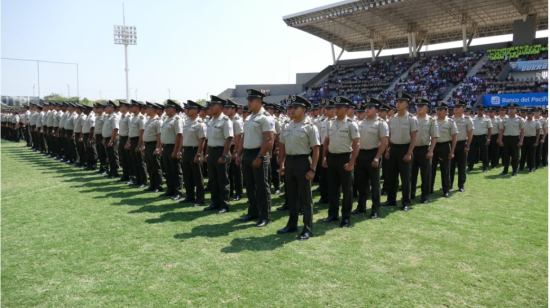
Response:
[{"label": "large overhanging roof canopy above the stadium stands", "polygon": [[346,0],[283,20],[352,52],[471,42],[476,37],[510,34],[514,20],[529,16],[535,16],[538,30],[548,29],[548,1]]}]

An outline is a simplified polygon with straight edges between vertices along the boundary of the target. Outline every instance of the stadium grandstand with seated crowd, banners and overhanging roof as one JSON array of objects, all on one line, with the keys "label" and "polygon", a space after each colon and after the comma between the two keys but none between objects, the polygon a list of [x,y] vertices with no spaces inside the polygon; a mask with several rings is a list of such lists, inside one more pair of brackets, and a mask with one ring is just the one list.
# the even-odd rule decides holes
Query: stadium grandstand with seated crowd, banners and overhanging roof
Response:
[{"label": "stadium grandstand with seated crowd, banners and overhanging roof", "polygon": [[[316,74],[297,74],[296,84],[237,85],[221,97],[244,104],[245,89],[254,87],[266,91],[267,101],[282,104],[296,94],[314,104],[337,95],[394,104],[403,91],[434,103],[460,98],[473,107],[484,94],[548,92],[548,38],[535,38],[536,31],[548,29],[547,1],[348,0],[283,21],[329,42],[333,63]],[[513,40],[471,46],[474,38],[504,34],[513,34]],[[452,41],[462,41],[462,47],[422,52],[423,46]],[[338,55],[334,46],[341,48]],[[380,56],[403,47],[408,54]],[[340,60],[344,51],[372,56]]]}]

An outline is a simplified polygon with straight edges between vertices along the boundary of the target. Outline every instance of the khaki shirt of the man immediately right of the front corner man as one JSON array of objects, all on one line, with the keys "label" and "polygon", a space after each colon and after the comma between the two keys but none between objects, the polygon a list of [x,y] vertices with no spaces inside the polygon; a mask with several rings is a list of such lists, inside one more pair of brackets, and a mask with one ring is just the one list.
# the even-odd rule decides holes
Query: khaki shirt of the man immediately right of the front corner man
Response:
[{"label": "khaki shirt of the man immediately right of the front corner man", "polygon": [[342,121],[334,118],[328,122],[328,151],[332,154],[351,153],[352,140],[359,137],[361,136],[359,135],[357,122],[347,116]]}]

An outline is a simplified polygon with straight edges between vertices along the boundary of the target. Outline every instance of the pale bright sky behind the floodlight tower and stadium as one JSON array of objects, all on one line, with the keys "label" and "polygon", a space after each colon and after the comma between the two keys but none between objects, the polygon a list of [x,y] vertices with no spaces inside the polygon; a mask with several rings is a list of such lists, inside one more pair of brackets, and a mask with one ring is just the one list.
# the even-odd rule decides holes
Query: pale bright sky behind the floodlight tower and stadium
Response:
[{"label": "pale bright sky behind the floodlight tower and stadium", "polygon": [[[332,62],[330,44],[287,27],[282,17],[334,0],[126,0],[130,96],[163,101],[206,98],[235,84],[295,82]],[[113,42],[122,1],[3,0],[1,55],[79,63],[80,96],[125,98],[124,46]],[[546,35],[547,36],[547,35]],[[338,52],[338,50],[337,50]],[[370,53],[345,53],[343,59]],[[290,64],[290,65],[289,65]],[[290,69],[289,69],[290,67]],[[2,95],[38,94],[36,63],[1,61]],[[41,64],[40,94],[76,95],[76,68]]]}]

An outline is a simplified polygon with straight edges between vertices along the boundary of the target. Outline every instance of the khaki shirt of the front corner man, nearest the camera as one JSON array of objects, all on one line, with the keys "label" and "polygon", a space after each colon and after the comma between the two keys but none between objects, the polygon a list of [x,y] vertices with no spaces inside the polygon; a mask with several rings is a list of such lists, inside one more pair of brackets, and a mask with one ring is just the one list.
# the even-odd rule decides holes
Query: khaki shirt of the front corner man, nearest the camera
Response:
[{"label": "khaki shirt of the front corner man, nearest the camera", "polygon": [[317,126],[305,118],[300,123],[291,121],[285,125],[279,142],[285,145],[287,155],[307,155],[310,148],[321,144]]}]

